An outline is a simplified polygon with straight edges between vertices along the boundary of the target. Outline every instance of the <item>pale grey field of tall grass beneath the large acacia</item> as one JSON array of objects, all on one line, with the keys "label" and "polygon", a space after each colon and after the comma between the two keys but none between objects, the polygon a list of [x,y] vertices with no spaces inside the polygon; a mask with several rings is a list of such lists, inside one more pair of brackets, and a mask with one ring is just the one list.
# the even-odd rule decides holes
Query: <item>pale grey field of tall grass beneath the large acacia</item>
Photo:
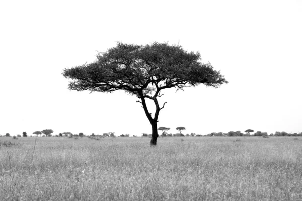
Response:
[{"label": "pale grey field of tall grass beneath the large acacia", "polygon": [[0,200],[302,200],[301,137],[149,141],[1,137]]}]

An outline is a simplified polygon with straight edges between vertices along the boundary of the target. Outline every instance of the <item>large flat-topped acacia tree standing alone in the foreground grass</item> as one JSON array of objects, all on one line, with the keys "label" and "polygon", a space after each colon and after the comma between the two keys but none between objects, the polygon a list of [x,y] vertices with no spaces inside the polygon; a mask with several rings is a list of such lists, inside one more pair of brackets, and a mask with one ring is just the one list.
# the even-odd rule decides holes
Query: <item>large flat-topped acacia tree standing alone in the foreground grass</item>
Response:
[{"label": "large flat-topped acacia tree standing alone in the foreground grass", "polygon": [[[70,90],[113,92],[124,90],[137,96],[152,126],[151,145],[158,138],[157,122],[160,111],[158,98],[167,88],[204,84],[218,88],[228,83],[210,63],[201,63],[199,52],[187,52],[179,45],[154,42],[150,45],[117,43],[116,47],[98,53],[95,62],[63,70],[71,79]],[[149,112],[146,100],[155,104],[155,113]]]}]

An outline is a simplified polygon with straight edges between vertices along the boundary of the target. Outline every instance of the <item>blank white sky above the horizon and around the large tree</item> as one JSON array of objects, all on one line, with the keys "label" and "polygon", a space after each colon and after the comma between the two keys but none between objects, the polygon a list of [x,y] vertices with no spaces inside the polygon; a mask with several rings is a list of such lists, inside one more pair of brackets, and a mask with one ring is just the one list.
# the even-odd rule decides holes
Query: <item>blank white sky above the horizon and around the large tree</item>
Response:
[{"label": "blank white sky above the horizon and around the large tree", "polygon": [[116,41],[179,43],[229,81],[164,90],[169,133],[302,132],[301,25],[298,0],[1,1],[0,135],[151,133],[134,96],[69,91],[62,76]]}]

